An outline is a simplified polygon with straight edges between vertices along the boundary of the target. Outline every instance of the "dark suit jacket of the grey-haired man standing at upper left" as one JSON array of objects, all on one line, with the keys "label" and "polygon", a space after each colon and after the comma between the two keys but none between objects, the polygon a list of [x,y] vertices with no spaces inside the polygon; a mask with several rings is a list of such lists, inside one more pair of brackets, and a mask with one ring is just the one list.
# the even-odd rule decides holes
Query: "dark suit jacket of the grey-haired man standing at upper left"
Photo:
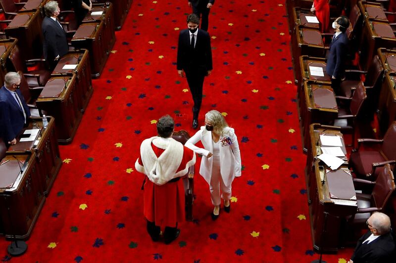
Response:
[{"label": "dark suit jacket of the grey-haired man standing at upper left", "polygon": [[69,51],[66,33],[59,26],[58,22],[46,16],[43,20],[41,29],[44,36],[44,58],[51,63],[57,55],[59,55],[59,57],[66,55]]}]

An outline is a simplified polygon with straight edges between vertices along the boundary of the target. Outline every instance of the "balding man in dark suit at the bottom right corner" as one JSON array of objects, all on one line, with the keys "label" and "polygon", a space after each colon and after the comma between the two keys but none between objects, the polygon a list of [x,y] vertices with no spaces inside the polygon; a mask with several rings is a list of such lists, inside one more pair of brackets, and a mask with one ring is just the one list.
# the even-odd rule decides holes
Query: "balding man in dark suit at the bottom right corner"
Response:
[{"label": "balding man in dark suit at the bottom right corner", "polygon": [[366,224],[369,231],[357,241],[348,263],[395,262],[395,240],[389,217],[383,213],[374,213]]}]

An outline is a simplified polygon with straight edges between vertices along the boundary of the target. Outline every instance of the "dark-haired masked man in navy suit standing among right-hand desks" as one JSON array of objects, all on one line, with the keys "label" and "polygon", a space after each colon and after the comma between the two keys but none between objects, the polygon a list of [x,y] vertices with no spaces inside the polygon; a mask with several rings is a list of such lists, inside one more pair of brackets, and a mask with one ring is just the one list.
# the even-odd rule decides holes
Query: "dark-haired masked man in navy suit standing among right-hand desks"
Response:
[{"label": "dark-haired masked man in navy suit standing among right-hand desks", "polygon": [[349,20],[346,16],[340,16],[333,22],[336,33],[330,44],[326,72],[331,77],[331,87],[336,93],[340,90],[341,80],[344,79],[345,74],[345,59],[348,50],[348,38],[345,31],[348,27]]}]

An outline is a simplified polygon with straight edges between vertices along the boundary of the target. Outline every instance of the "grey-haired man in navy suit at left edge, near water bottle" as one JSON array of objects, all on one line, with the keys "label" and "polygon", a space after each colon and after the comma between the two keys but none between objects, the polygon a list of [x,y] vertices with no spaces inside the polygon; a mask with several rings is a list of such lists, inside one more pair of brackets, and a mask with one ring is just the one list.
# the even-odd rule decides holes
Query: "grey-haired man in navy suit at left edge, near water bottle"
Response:
[{"label": "grey-haired man in navy suit at left edge, near water bottle", "polygon": [[16,72],[8,72],[4,86],[0,88],[0,134],[8,144],[16,144],[16,136],[28,123],[30,110],[19,90],[21,77]]}]

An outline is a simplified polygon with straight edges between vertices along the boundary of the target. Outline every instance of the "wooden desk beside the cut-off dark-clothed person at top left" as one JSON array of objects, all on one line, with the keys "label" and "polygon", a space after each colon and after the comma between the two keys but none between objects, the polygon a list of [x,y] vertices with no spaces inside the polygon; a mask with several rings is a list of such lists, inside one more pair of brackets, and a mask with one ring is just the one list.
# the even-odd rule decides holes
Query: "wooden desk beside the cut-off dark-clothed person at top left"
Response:
[{"label": "wooden desk beside the cut-off dark-clothed person at top left", "polygon": [[[105,4],[93,4],[91,11],[86,15],[83,23],[92,23],[93,21],[100,22],[103,20],[103,31],[104,31],[104,45],[107,55],[113,49],[115,43],[115,32],[114,32],[114,4],[106,2]],[[102,15],[91,15],[92,12],[102,11]]]}]

